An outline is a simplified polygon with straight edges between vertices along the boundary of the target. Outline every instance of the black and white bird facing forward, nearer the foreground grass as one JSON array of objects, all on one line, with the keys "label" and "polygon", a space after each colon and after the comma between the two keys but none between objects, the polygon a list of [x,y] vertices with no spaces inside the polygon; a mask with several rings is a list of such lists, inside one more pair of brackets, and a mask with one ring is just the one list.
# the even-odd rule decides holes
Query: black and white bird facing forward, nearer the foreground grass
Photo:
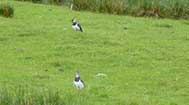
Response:
[{"label": "black and white bird facing forward, nearer the foreground grass", "polygon": [[84,82],[81,80],[79,72],[76,72],[75,75],[75,80],[74,80],[74,85],[77,89],[82,89],[84,88]]}]

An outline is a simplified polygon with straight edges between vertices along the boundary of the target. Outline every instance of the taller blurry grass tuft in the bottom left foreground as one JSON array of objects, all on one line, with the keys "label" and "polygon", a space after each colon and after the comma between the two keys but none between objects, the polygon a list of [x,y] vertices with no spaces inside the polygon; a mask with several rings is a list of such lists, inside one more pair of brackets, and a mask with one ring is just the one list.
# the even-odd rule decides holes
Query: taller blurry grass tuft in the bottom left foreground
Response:
[{"label": "taller blurry grass tuft in the bottom left foreground", "polygon": [[58,91],[31,86],[0,88],[0,105],[64,105]]}]

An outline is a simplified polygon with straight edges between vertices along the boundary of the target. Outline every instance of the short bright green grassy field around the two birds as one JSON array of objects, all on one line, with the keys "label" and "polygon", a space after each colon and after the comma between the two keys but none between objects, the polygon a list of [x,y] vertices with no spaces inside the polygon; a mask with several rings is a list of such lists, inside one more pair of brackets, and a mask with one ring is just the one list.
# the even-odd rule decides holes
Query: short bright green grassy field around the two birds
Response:
[{"label": "short bright green grassy field around the two birds", "polygon": [[[0,90],[47,88],[63,105],[189,105],[189,21],[11,3],[14,17],[0,17]],[[71,28],[73,17],[83,33]]]}]

